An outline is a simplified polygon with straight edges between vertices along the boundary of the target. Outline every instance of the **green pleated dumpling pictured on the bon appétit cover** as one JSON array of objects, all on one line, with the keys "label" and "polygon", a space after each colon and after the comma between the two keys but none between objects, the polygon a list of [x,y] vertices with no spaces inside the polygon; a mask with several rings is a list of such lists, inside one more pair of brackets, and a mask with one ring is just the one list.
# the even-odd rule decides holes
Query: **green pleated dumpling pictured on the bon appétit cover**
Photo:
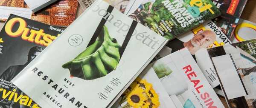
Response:
[{"label": "green pleated dumpling pictured on the bon app\u00e9tit cover", "polygon": [[68,68],[70,74],[84,80],[94,80],[104,77],[119,63],[120,45],[111,38],[104,26],[96,41],[81,52],[74,60],[62,65]]}]

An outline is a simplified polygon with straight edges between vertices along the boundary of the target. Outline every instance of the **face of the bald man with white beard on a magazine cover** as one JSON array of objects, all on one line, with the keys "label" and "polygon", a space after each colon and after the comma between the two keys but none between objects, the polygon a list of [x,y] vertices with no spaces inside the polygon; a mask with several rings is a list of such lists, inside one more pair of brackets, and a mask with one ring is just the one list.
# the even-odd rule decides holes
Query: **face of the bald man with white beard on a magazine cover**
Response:
[{"label": "face of the bald man with white beard on a magazine cover", "polygon": [[188,42],[184,43],[184,47],[188,48],[191,54],[195,54],[201,48],[207,48],[216,40],[216,35],[213,31],[205,30],[189,40]]}]

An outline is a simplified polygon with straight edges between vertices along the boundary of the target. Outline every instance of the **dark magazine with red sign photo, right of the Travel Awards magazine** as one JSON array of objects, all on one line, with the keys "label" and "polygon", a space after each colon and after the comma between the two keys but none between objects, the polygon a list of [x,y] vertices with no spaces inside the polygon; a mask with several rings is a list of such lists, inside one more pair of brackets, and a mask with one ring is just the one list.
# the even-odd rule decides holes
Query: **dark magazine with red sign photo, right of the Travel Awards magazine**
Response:
[{"label": "dark magazine with red sign photo, right of the Travel Awards magazine", "polygon": [[231,39],[247,0],[212,0],[221,16],[213,21]]}]

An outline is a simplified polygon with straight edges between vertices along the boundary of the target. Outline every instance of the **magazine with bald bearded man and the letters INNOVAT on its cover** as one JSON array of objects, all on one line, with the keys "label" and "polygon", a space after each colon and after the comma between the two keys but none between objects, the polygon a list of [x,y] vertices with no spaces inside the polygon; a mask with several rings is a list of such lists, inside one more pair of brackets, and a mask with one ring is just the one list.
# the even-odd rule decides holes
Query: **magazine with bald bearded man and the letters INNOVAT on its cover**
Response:
[{"label": "magazine with bald bearded man and the letters INNOVAT on its cover", "polygon": [[164,47],[165,49],[161,50],[152,62],[182,48],[188,48],[207,81],[213,88],[215,88],[219,85],[219,82],[206,49],[230,43],[231,41],[221,29],[215,25],[215,23],[207,21],[193,29],[191,32],[187,32],[186,34],[169,41]]}]

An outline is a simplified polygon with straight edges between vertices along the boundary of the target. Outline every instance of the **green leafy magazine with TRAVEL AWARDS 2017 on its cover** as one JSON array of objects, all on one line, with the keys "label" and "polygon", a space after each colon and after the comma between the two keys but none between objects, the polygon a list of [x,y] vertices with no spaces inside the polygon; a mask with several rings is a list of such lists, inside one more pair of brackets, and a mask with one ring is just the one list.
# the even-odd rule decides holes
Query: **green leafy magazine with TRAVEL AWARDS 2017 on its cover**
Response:
[{"label": "green leafy magazine with TRAVEL AWARDS 2017 on its cover", "polygon": [[105,0],[166,39],[221,14],[211,0]]}]

